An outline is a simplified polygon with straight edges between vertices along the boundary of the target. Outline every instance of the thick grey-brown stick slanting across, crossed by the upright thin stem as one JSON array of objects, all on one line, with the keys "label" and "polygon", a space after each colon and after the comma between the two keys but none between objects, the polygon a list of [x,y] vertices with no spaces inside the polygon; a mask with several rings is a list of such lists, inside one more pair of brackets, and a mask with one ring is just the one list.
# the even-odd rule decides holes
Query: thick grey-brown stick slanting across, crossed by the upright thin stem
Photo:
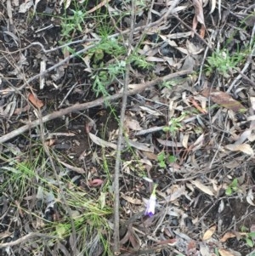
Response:
[{"label": "thick grey-brown stick slanting across, crossed by the upright thin stem", "polygon": [[[170,79],[173,79],[174,77],[190,75],[192,72],[193,71],[191,71],[191,70],[178,71],[176,73],[169,74],[165,77],[158,77],[155,80],[150,81],[150,82],[137,84],[136,88],[127,91],[127,96],[133,95],[133,94],[139,94],[145,88],[149,88],[150,86],[156,85],[156,84],[161,83],[161,82],[166,82]],[[120,99],[120,98],[122,98],[122,96],[123,96],[122,93],[113,94],[109,97],[99,98],[98,100],[94,100],[94,101],[87,102],[87,103],[71,105],[70,107],[67,107],[65,109],[62,109],[62,110],[59,110],[59,111],[54,111],[53,113],[42,117],[41,120],[37,119],[35,121],[32,121],[32,122],[30,122],[30,123],[28,123],[28,124],[26,124],[26,125],[24,125],[20,128],[15,129],[14,131],[12,131],[8,134],[5,134],[5,135],[1,136],[0,137],[0,144],[3,143],[3,142],[8,141],[9,139],[15,138],[16,136],[18,136],[20,134],[25,133],[27,130],[29,130],[31,128],[37,127],[37,125],[39,125],[41,121],[42,122],[48,122],[48,121],[53,120],[55,118],[62,117],[62,116],[65,116],[67,114],[70,114],[71,112],[87,110],[87,109],[92,108],[94,106],[102,105],[107,101]]]}]

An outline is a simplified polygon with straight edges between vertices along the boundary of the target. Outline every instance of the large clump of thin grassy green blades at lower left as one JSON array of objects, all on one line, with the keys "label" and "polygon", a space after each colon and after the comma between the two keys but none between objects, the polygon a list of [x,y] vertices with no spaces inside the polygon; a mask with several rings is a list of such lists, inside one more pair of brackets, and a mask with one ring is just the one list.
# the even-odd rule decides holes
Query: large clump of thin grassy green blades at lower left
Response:
[{"label": "large clump of thin grassy green blades at lower left", "polygon": [[[14,150],[12,153],[15,153]],[[54,151],[51,151],[51,154],[58,164]],[[112,208],[108,205],[113,201],[110,174],[106,175],[100,191],[95,189],[96,193],[88,193],[72,183],[68,177],[69,172],[62,169],[59,164],[60,185],[65,190],[63,195],[59,193],[59,184],[54,178],[51,166],[45,161],[41,145],[35,146],[30,157],[22,155],[17,159],[10,159],[2,156],[2,159],[9,163],[9,166],[1,168],[4,180],[1,187],[3,195],[8,196],[8,208],[14,208],[17,213],[30,216],[35,223],[40,224],[37,226],[40,232],[55,236],[48,238],[48,247],[54,247],[56,242],[71,237],[72,222],[77,233],[77,249],[81,255],[94,255],[99,247],[102,255],[112,255],[112,230],[108,222],[112,214]],[[21,159],[23,160],[20,161]],[[27,200],[30,199],[25,198],[33,198],[36,203],[28,204]],[[70,213],[66,210],[67,206],[71,209]],[[54,217],[47,218],[47,208],[54,208],[54,216],[58,216],[57,221]],[[37,228],[34,226],[34,230]],[[42,241],[38,238],[37,242],[38,246],[34,250],[34,253],[37,251],[36,254],[43,251]]]}]

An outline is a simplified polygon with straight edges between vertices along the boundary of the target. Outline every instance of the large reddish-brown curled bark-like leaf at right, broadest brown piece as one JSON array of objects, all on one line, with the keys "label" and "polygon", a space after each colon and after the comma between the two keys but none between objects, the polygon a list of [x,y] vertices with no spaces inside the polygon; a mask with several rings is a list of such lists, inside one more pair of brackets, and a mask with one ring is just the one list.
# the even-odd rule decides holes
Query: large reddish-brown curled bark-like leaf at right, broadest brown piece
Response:
[{"label": "large reddish-brown curled bark-like leaf at right, broadest brown piece", "polygon": [[246,108],[241,105],[241,103],[237,100],[234,100],[229,94],[218,91],[216,89],[213,88],[206,88],[204,89],[201,94],[204,97],[210,97],[210,99],[218,104],[218,105],[222,105],[225,108],[234,111],[234,112],[245,112]]}]

